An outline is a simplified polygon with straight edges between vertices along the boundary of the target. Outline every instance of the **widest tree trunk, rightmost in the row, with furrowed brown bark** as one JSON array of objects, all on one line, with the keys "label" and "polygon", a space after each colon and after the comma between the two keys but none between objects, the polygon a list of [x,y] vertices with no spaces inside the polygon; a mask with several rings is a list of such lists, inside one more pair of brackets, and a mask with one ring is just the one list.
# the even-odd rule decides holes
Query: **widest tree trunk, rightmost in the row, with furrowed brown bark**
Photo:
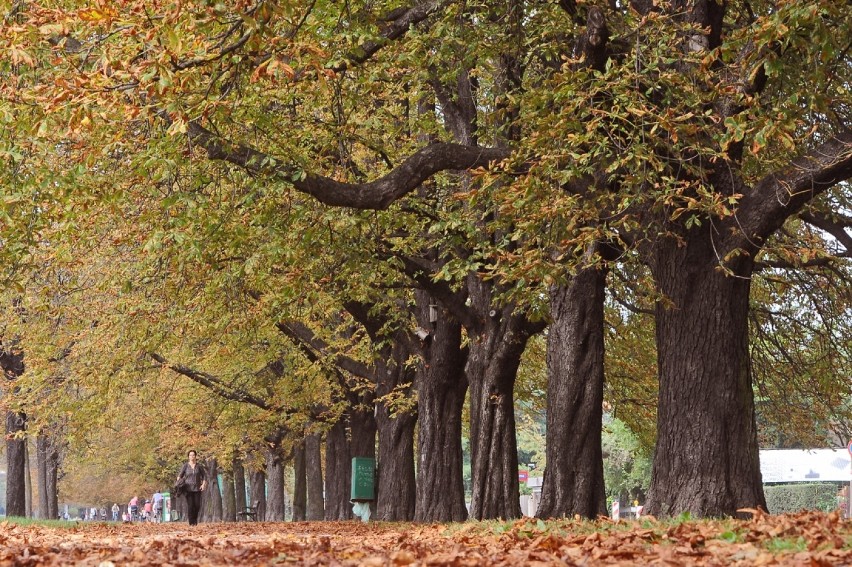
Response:
[{"label": "widest tree trunk, rightmost in the row, with furrowed brown bark", "polygon": [[646,510],[735,515],[766,508],[748,356],[751,257],[719,269],[710,224],[684,245],[655,244],[650,265],[671,302],[656,308],[660,392]]}]

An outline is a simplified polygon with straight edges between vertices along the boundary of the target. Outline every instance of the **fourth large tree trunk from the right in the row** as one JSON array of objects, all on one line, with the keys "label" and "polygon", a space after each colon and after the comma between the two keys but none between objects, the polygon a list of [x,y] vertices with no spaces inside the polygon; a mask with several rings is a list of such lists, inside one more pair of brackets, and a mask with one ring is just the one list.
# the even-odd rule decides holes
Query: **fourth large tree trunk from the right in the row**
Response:
[{"label": "fourth large tree trunk from the right in the row", "polygon": [[[428,298],[426,303],[428,304]],[[462,472],[462,407],[467,391],[461,325],[442,312],[424,351],[417,385],[418,522],[467,519]]]}]

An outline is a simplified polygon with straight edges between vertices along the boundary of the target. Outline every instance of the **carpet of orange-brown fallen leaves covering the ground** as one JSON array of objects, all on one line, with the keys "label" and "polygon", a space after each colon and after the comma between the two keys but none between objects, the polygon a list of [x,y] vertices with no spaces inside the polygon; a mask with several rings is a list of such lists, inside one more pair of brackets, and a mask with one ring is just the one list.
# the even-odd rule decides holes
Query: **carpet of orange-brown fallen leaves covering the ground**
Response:
[{"label": "carpet of orange-brown fallen leaves covering the ground", "polygon": [[802,512],[751,520],[0,523],[6,565],[850,565],[852,522]]}]

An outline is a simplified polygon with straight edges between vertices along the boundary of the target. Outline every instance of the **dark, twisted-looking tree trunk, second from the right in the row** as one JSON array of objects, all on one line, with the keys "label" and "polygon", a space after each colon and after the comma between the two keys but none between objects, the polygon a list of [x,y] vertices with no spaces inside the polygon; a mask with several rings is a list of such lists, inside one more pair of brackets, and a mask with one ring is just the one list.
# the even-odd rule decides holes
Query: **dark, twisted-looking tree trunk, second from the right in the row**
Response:
[{"label": "dark, twisted-looking tree trunk, second from the right in the row", "polygon": [[606,514],[601,427],[606,273],[587,268],[550,290],[547,467],[537,516]]}]

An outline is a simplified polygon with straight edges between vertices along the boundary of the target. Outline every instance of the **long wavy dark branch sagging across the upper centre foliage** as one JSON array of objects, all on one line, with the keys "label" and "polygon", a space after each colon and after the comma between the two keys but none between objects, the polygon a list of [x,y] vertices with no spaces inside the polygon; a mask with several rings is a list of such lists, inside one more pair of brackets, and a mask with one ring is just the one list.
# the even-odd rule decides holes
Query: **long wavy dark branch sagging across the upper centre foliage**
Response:
[{"label": "long wavy dark branch sagging across the upper centre foliage", "polygon": [[286,159],[267,155],[245,144],[228,142],[197,122],[188,124],[187,133],[211,159],[231,163],[255,175],[279,177],[322,203],[354,209],[386,209],[436,173],[488,167],[507,158],[510,153],[505,148],[436,143],[416,151],[375,181],[345,183],[303,171]]}]

